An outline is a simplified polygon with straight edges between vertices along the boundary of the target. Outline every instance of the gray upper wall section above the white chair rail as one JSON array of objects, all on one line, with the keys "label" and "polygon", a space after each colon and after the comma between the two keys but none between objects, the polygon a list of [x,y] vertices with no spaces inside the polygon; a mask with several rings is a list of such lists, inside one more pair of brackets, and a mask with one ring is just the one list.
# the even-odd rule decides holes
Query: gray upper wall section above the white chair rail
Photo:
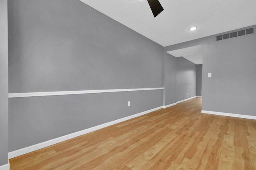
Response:
[{"label": "gray upper wall section above the white chair rail", "polygon": [[163,47],[79,0],[9,0],[9,92],[163,87]]}]

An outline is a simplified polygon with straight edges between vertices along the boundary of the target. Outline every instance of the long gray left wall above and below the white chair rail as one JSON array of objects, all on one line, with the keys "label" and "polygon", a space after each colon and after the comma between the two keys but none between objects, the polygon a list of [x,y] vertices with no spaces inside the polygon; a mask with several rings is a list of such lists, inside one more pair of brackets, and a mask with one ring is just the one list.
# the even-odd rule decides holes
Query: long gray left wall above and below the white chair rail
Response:
[{"label": "long gray left wall above and below the white chair rail", "polygon": [[[163,87],[163,47],[79,0],[9,0],[8,19],[10,93]],[[162,106],[163,90],[9,103],[13,151]]]}]

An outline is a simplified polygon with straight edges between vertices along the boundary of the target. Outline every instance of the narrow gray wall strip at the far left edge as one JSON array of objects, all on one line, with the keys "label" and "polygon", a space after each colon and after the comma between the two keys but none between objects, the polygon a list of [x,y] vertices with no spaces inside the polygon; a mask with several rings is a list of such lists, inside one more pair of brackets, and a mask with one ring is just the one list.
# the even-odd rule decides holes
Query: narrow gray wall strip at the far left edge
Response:
[{"label": "narrow gray wall strip at the far left edge", "polygon": [[8,20],[0,0],[0,166],[8,164]]}]

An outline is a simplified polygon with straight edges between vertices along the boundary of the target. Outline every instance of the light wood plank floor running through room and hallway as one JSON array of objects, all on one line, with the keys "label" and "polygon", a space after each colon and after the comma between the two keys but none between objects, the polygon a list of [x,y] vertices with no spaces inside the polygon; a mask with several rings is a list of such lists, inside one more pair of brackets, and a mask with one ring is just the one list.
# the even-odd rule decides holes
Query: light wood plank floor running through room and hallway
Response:
[{"label": "light wood plank floor running through room and hallway", "polygon": [[201,114],[201,98],[16,158],[11,170],[256,170],[256,120]]}]

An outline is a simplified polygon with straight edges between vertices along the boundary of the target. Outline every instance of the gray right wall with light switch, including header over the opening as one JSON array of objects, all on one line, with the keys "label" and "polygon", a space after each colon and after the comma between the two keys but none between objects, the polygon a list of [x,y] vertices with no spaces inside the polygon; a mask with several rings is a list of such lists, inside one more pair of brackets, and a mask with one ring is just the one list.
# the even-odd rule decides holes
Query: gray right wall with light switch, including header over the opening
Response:
[{"label": "gray right wall with light switch, including header over the opening", "polygon": [[[229,32],[232,31],[226,33]],[[202,110],[256,116],[256,34],[222,41],[216,41],[216,35],[212,35],[164,47],[164,51],[201,44]],[[207,77],[208,73],[212,73],[212,78]]]}]

